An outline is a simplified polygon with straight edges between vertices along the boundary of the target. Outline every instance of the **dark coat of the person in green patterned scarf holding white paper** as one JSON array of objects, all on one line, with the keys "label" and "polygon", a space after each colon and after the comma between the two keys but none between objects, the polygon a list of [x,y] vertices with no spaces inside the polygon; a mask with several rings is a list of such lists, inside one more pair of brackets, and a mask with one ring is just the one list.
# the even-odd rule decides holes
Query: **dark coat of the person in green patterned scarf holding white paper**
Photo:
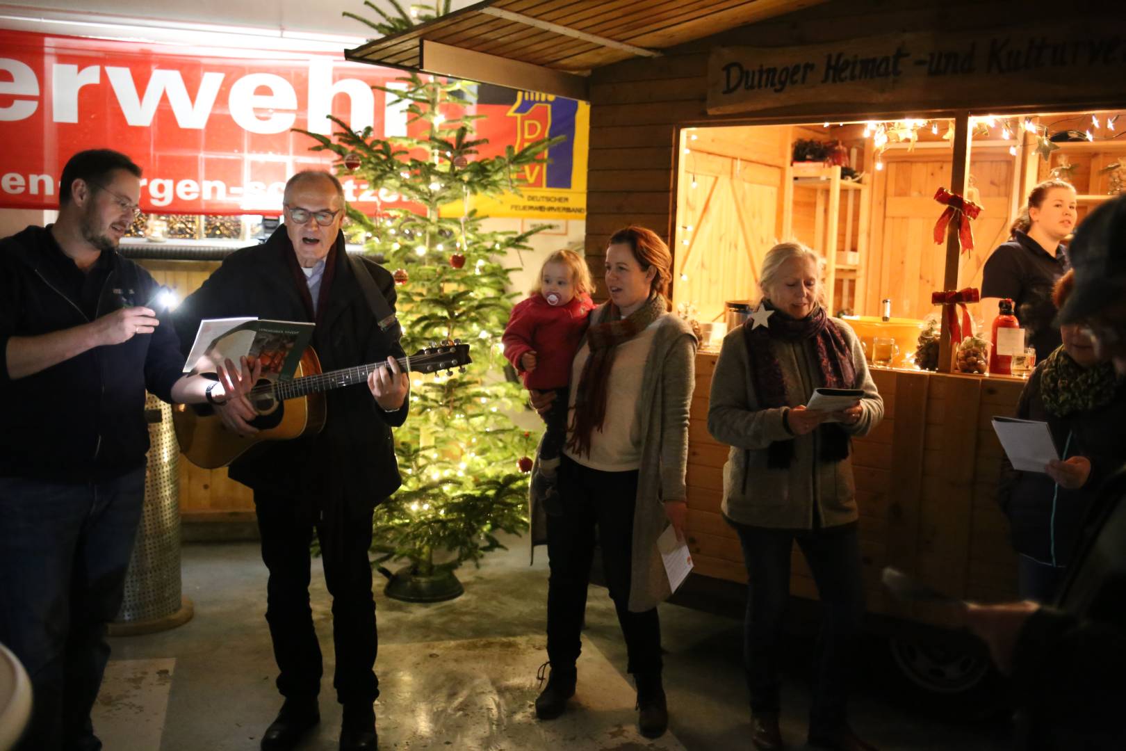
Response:
[{"label": "dark coat of the person in green patterned scarf holding white paper", "polygon": [[1044,409],[1043,365],[1037,366],[1025,384],[1017,417],[1047,422],[1061,456],[1085,456],[1091,461],[1091,476],[1079,490],[1057,490],[1048,475],[1018,472],[1008,457],[1002,457],[998,502],[1009,517],[1012,546],[1018,553],[1042,563],[1066,566],[1096,493],[1126,462],[1126,388],[1119,387],[1107,406],[1058,417]]}]

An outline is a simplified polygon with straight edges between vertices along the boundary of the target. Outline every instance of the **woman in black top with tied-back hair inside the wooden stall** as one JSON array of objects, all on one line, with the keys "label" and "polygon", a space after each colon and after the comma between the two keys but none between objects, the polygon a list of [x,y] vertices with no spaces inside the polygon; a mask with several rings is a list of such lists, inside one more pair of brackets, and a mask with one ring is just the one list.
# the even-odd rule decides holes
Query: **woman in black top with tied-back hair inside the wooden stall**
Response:
[{"label": "woman in black top with tied-back hair inside the wooden stall", "polygon": [[998,245],[982,269],[983,331],[991,331],[1002,297],[1012,299],[1026,345],[1042,360],[1060,346],[1053,325],[1056,309],[1052,288],[1067,270],[1066,249],[1060,244],[1075,229],[1075,188],[1063,180],[1045,180],[1028,194],[1028,204],[1012,223],[1012,236]]}]

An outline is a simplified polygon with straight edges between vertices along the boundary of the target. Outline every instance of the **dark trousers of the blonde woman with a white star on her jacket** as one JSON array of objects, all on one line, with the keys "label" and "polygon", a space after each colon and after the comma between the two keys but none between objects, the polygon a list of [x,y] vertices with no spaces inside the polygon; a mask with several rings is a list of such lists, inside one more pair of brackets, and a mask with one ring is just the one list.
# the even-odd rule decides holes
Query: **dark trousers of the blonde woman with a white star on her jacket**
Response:
[{"label": "dark trousers of the blonde woman with a white star on her jacket", "polygon": [[855,636],[864,619],[864,580],[856,525],[795,533],[748,527],[731,520],[729,524],[739,533],[749,576],[743,660],[751,710],[777,714],[780,708],[778,650],[789,600],[790,552],[796,542],[810,564],[823,608],[810,730],[824,734],[839,731],[847,718]]}]

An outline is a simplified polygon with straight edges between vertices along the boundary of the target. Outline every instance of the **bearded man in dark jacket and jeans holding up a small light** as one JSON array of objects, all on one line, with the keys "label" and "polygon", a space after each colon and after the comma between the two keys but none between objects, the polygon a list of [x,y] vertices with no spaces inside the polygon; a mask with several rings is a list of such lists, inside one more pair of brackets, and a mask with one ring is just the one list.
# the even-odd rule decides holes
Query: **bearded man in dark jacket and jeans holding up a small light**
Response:
[{"label": "bearded man in dark jacket and jeans holding up a small light", "polygon": [[74,154],[55,223],[0,240],[0,643],[32,679],[21,749],[101,748],[90,708],[144,499],[145,391],[224,393],[182,377],[159,285],[117,252],[140,178],[116,151]]}]

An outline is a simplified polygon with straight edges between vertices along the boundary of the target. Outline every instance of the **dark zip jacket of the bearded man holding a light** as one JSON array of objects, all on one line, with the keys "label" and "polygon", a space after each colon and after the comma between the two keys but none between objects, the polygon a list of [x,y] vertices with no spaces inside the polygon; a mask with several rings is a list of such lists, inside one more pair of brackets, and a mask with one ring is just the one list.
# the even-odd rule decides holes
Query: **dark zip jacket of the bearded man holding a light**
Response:
[{"label": "dark zip jacket of the bearded man holding a light", "polygon": [[[62,251],[46,227],[29,226],[0,240],[0,354],[10,337],[37,337],[92,320],[63,292],[50,252]],[[149,303],[158,289],[152,276],[116,251],[102,253],[98,263],[108,262],[108,272],[93,318]],[[176,332],[166,316],[161,320],[151,334],[88,349],[16,381],[0,357],[0,476],[101,482],[144,465],[145,390],[169,401],[184,367]]]}]

